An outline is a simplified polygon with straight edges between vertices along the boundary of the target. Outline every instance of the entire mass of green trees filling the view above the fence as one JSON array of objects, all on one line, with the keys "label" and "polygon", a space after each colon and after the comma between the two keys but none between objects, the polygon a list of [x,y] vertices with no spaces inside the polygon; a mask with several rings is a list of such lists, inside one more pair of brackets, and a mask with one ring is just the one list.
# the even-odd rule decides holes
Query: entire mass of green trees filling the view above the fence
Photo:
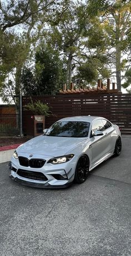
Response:
[{"label": "entire mass of green trees filling the view above the fence", "polygon": [[[0,94],[5,101],[20,89],[26,95],[56,94],[72,78],[94,84],[111,76],[110,67],[118,79],[131,62],[129,0],[8,0],[0,9]],[[127,88],[128,73],[125,78]]]}]

